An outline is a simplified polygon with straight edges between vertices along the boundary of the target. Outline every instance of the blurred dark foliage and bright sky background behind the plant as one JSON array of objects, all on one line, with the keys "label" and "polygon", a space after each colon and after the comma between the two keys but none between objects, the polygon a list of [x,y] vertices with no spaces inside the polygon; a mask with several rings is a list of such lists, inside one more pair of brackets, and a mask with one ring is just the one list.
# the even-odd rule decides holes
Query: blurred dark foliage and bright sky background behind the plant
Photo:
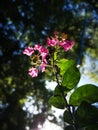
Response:
[{"label": "blurred dark foliage and bright sky background behind the plant", "polygon": [[98,85],[98,1],[0,0],[0,130],[64,128],[48,103],[52,75],[28,76],[30,59],[22,54],[27,46],[44,45],[54,30],[75,41],[69,53],[81,66],[80,84]]}]

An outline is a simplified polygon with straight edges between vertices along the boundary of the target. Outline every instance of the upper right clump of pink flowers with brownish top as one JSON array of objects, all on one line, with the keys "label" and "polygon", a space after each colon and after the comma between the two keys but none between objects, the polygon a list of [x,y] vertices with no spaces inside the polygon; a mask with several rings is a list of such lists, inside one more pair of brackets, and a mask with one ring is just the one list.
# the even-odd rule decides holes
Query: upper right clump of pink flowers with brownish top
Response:
[{"label": "upper right clump of pink flowers with brownish top", "polygon": [[47,45],[48,46],[60,46],[62,47],[65,51],[68,51],[69,49],[71,49],[74,45],[73,41],[69,41],[67,40],[67,35],[64,33],[58,33],[55,32],[54,36],[51,38],[47,38]]}]

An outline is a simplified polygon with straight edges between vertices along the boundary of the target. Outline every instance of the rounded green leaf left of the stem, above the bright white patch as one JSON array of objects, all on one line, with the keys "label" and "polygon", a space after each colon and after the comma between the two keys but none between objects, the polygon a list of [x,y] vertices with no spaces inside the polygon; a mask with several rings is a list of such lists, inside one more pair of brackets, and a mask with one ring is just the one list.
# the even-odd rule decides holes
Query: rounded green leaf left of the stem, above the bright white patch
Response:
[{"label": "rounded green leaf left of the stem, above the bright white patch", "polygon": [[59,109],[64,109],[66,106],[66,102],[62,96],[52,96],[49,103]]}]

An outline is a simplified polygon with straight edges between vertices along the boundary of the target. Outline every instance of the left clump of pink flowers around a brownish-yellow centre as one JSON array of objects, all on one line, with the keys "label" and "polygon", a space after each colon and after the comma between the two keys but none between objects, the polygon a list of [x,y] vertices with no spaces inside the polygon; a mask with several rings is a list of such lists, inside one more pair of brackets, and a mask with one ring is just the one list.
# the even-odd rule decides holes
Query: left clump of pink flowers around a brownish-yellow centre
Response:
[{"label": "left clump of pink flowers around a brownish-yellow centre", "polygon": [[[38,54],[36,54],[36,51]],[[27,56],[32,56],[32,54],[34,54],[34,57],[33,57],[34,64],[33,64],[33,67],[29,69],[29,72],[28,72],[28,74],[31,77],[38,76],[38,67],[41,69],[42,72],[45,71],[46,66],[47,66],[46,56],[48,55],[47,48],[39,44],[36,44],[34,47],[27,47],[23,51],[23,54],[26,54]]]}]

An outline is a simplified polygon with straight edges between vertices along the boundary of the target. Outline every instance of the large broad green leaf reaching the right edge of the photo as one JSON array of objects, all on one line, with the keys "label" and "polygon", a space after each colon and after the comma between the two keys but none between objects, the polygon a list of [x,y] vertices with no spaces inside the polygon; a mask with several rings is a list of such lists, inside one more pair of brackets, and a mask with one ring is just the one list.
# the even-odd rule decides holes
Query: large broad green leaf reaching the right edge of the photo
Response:
[{"label": "large broad green leaf reaching the right edge of the photo", "polygon": [[86,84],[77,88],[70,96],[69,104],[78,106],[82,101],[88,103],[98,102],[98,87]]}]

